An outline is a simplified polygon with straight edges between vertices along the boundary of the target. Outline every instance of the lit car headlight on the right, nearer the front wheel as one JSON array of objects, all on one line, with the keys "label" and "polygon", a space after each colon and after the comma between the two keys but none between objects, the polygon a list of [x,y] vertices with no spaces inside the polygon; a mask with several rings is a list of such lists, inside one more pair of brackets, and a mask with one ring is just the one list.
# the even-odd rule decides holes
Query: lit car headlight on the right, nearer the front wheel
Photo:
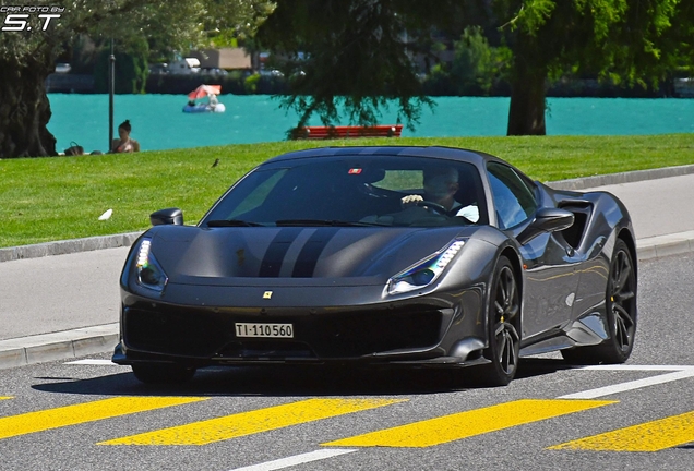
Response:
[{"label": "lit car headlight on the right, nearer the front wheel", "polygon": [[465,241],[455,240],[435,254],[400,271],[388,280],[388,294],[404,293],[431,285],[463,249]]}]

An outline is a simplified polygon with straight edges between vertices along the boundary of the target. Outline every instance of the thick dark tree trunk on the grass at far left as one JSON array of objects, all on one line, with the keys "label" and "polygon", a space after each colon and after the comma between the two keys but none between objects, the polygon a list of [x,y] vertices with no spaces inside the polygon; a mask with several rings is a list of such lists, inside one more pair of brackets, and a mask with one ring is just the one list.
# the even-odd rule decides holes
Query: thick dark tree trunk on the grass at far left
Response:
[{"label": "thick dark tree trunk on the grass at far left", "polygon": [[0,158],[57,155],[46,128],[51,112],[45,82],[52,63],[41,55],[0,59]]}]

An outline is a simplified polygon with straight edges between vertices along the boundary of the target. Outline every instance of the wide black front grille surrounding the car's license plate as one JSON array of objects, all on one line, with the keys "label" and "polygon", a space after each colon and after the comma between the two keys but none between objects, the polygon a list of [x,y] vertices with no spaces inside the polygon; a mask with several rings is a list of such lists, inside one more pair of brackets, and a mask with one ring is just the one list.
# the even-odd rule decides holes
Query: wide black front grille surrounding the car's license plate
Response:
[{"label": "wide black front grille surrounding the car's license plate", "polygon": [[[125,345],[153,353],[217,359],[359,358],[417,350],[440,340],[442,313],[430,305],[396,309],[234,310],[132,306],[123,310]],[[290,323],[294,338],[237,338],[235,323]]]}]

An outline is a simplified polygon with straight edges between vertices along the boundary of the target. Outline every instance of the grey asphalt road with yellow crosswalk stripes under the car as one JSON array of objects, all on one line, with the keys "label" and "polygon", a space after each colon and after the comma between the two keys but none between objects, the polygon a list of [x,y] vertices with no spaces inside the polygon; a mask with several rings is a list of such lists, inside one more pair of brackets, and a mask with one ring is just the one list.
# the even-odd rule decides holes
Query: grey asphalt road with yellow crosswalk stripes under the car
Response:
[{"label": "grey asphalt road with yellow crosswalk stripes under the car", "polygon": [[107,361],[3,370],[0,469],[689,471],[693,262],[641,264],[625,366],[567,369],[551,354],[503,388],[469,387],[472,370],[211,370],[170,388]]}]

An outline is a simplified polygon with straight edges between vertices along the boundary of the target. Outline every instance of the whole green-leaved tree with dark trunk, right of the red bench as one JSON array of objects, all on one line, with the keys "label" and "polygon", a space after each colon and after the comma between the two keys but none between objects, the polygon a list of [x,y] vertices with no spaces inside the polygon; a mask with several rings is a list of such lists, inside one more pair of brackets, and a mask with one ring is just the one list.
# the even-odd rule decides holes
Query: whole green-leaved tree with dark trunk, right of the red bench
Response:
[{"label": "whole green-leaved tree with dark trunk, right of the red bench", "polygon": [[681,0],[495,0],[493,9],[514,53],[508,135],[546,133],[547,80],[566,70],[657,86],[694,22]]}]

